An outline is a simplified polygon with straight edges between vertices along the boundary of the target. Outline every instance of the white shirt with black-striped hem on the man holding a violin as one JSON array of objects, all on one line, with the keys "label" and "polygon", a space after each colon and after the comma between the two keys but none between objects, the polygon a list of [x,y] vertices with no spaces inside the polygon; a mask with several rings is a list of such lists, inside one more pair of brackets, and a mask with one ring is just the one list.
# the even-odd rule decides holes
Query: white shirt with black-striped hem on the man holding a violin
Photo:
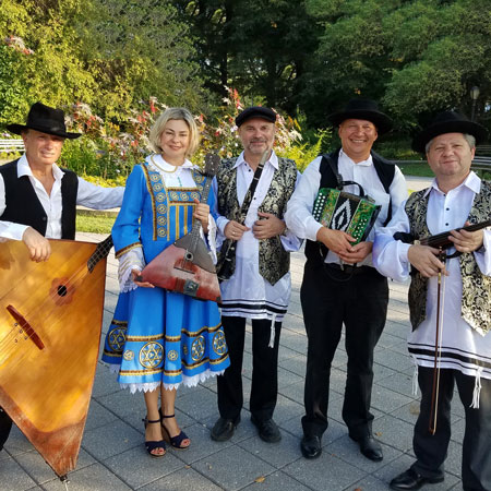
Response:
[{"label": "white shirt with black-striped hem on the man holding a violin", "polygon": [[[474,197],[479,192],[481,180],[470,172],[457,188],[443,193],[433,180],[427,191],[427,225],[431,235],[463,227],[469,215]],[[394,240],[395,232],[408,232],[409,220],[405,207],[393,217],[386,228],[376,231],[373,246],[373,262],[385,276],[404,282],[409,277],[410,263],[407,252],[410,244]],[[491,275],[491,230],[484,230],[484,249],[474,252],[477,264],[484,275]],[[451,254],[455,249],[448,250]],[[442,357],[441,368],[459,370],[467,375],[491,379],[491,335],[482,336],[460,316],[462,276],[458,258],[446,261],[448,276],[443,276],[442,285]],[[422,367],[434,364],[434,342],[436,328],[438,277],[428,282],[427,318],[408,336],[409,352]],[[490,308],[488,306],[488,308]],[[488,368],[479,367],[479,361]]]}]

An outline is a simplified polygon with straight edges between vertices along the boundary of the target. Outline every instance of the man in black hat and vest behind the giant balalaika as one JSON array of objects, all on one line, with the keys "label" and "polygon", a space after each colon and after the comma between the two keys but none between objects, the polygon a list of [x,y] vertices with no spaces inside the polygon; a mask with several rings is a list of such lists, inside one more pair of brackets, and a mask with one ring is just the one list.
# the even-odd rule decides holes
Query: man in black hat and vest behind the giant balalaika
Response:
[{"label": "man in black hat and vest behind the giant balalaika", "polygon": [[[51,253],[49,239],[74,239],[76,205],[96,209],[121,206],[123,188],[101,188],[57,166],[68,133],[64,113],[36,103],[26,124],[9,124],[21,134],[25,154],[0,166],[0,241],[22,240],[36,262]],[[0,408],[0,450],[12,420]]]}]

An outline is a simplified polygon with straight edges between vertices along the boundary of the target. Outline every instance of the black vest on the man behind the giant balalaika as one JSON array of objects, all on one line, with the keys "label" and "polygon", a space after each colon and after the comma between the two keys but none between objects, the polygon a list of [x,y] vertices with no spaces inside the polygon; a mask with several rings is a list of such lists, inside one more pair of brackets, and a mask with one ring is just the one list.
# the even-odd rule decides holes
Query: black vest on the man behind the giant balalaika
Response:
[{"label": "black vest on the man behind the giant balalaika", "polygon": [[[1,220],[28,225],[43,236],[46,235],[48,217],[40,204],[29,178],[17,178],[17,160],[0,166],[0,173],[5,183],[5,211]],[[76,192],[79,179],[75,172],[63,169],[61,179],[61,238],[75,238]]]}]

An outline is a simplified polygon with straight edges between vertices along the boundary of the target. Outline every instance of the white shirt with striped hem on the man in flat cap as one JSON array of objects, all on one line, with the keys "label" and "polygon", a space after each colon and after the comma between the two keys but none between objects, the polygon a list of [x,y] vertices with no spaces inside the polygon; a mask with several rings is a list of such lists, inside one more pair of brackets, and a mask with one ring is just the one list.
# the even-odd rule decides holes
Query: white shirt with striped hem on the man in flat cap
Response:
[{"label": "white shirt with striped hem on the man in flat cap", "polygon": [[[243,158],[243,152],[237,158],[237,199],[241,206],[246,193],[252,182],[254,171]],[[264,165],[261,178],[249,206],[244,225],[250,228],[236,247],[236,271],[233,275],[221,283],[221,314],[247,319],[270,319],[280,322],[290,301],[290,273],[288,272],[275,285],[264,279],[259,272],[259,240],[252,232],[254,223],[259,219],[258,209],[267,195],[275,170],[278,169],[278,157],[272,152]],[[299,182],[300,173],[297,176]],[[214,190],[216,180],[214,180]],[[216,211],[215,211],[216,212]],[[217,246],[225,239],[225,227],[229,219],[217,215],[218,228]],[[287,252],[297,251],[301,240],[292,232],[287,231],[280,236],[282,244]]]}]

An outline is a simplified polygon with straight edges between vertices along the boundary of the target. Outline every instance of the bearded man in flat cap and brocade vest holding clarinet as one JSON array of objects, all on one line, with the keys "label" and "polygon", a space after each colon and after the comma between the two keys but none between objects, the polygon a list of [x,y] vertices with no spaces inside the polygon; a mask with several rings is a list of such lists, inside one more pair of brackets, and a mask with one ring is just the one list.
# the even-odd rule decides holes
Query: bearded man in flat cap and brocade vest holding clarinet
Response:
[{"label": "bearded man in flat cap and brocade vest holding clarinet", "polygon": [[[290,298],[288,251],[298,250],[301,242],[283,219],[298,171],[295,161],[277,157],[273,151],[275,121],[276,113],[270,108],[243,110],[236,118],[243,152],[238,158],[223,160],[216,179],[217,228],[223,237],[236,241],[232,274],[220,286],[230,367],[217,379],[220,417],[212,430],[216,441],[230,439],[240,421],[247,319],[252,322],[251,420],[262,440],[277,442],[282,438],[273,420],[279,333]],[[258,169],[265,152],[267,160],[261,172]],[[242,220],[240,208],[249,201],[253,177],[259,181]],[[221,255],[225,249],[224,244]]]}]

